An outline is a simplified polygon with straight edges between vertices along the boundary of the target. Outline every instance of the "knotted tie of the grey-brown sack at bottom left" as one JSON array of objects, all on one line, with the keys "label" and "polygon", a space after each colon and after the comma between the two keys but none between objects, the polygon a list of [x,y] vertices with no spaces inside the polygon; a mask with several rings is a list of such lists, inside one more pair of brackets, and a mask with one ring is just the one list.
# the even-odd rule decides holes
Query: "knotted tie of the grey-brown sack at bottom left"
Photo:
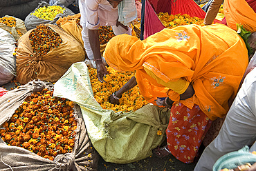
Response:
[{"label": "knotted tie of the grey-brown sack at bottom left", "polygon": [[75,155],[72,153],[59,154],[54,161],[57,170],[71,170],[75,162]]}]

